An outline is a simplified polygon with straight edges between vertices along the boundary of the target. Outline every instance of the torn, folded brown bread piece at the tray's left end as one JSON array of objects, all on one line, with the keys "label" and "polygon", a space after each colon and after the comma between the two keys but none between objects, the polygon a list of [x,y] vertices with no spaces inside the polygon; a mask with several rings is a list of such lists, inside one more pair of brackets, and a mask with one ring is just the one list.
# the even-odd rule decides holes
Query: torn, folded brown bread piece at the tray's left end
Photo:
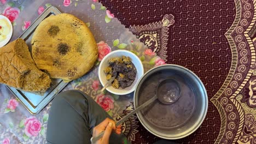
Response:
[{"label": "torn, folded brown bread piece at the tray's left end", "polygon": [[50,87],[50,77],[36,67],[23,39],[0,48],[0,58],[0,83],[40,94]]}]

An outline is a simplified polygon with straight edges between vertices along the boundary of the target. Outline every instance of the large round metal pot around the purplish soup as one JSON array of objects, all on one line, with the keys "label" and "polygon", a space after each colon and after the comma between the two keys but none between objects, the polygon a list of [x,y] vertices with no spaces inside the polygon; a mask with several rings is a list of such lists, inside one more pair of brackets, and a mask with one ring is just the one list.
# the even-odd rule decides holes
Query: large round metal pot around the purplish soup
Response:
[{"label": "large round metal pot around the purplish soup", "polygon": [[[144,128],[146,128],[150,133],[154,134],[155,136],[168,140],[181,139],[185,136],[192,134],[197,128],[200,127],[203,119],[205,119],[208,108],[206,89],[203,86],[203,83],[199,79],[199,77],[197,77],[192,71],[188,70],[187,68],[174,64],[161,65],[147,71],[147,73],[144,74],[138,81],[133,98],[135,107],[138,107],[139,103],[141,104],[141,102],[139,102],[139,93],[140,91],[142,91],[142,88],[145,88],[144,85],[147,84],[146,81],[150,80],[154,74],[161,74],[162,71],[165,71],[167,75],[170,74],[170,76],[173,76],[174,73],[181,75],[184,80],[188,82],[191,87],[193,87],[193,92],[195,95],[194,99],[196,101],[193,107],[193,113],[191,113],[191,116],[187,119],[188,121],[185,121],[182,125],[178,125],[177,127],[172,128],[157,127],[156,125],[149,122],[149,119],[144,116],[143,111],[137,112],[137,116]],[[168,76],[165,78],[168,78]],[[150,106],[144,109],[150,109]],[[159,115],[158,112],[156,112],[155,114]],[[181,119],[177,119],[177,121],[181,121]]]}]

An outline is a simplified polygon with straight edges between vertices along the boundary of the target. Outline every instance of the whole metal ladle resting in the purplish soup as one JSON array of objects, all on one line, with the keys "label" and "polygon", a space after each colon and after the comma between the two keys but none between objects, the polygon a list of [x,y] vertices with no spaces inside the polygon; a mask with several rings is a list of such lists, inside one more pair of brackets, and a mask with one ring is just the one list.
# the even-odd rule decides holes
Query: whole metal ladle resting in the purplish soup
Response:
[{"label": "whole metal ladle resting in the purplish soup", "polygon": [[[170,78],[170,79],[165,79],[161,81],[158,84],[158,87],[156,88],[156,93],[153,98],[150,98],[148,101],[137,107],[135,110],[130,112],[128,115],[126,115],[124,118],[120,119],[116,125],[120,125],[126,119],[134,115],[136,112],[142,110],[144,107],[148,106],[149,104],[153,103],[156,99],[158,99],[162,104],[172,104],[175,101],[179,99],[181,96],[181,87],[179,86],[179,83]],[[91,137],[91,143],[96,143],[96,141],[100,140],[101,137],[104,135],[105,131],[102,131],[100,134],[98,134],[95,137]]]}]

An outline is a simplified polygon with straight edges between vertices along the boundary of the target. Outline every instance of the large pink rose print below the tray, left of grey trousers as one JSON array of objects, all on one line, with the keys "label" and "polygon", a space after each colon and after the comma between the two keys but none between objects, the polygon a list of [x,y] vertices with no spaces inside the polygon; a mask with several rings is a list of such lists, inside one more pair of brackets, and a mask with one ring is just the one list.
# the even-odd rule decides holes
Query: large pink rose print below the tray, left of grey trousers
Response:
[{"label": "large pink rose print below the tray, left of grey trousers", "polygon": [[25,134],[28,137],[37,136],[41,130],[41,123],[34,117],[25,119]]}]

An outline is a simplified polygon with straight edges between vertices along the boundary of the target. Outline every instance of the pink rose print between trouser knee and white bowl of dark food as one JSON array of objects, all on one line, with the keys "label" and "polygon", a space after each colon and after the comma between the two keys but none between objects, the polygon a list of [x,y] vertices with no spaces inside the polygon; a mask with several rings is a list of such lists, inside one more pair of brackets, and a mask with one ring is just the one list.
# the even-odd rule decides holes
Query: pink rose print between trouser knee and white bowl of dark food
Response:
[{"label": "pink rose print between trouser knee and white bowl of dark food", "polygon": [[104,109],[109,111],[114,108],[114,99],[111,95],[100,94],[97,96],[96,102]]}]

